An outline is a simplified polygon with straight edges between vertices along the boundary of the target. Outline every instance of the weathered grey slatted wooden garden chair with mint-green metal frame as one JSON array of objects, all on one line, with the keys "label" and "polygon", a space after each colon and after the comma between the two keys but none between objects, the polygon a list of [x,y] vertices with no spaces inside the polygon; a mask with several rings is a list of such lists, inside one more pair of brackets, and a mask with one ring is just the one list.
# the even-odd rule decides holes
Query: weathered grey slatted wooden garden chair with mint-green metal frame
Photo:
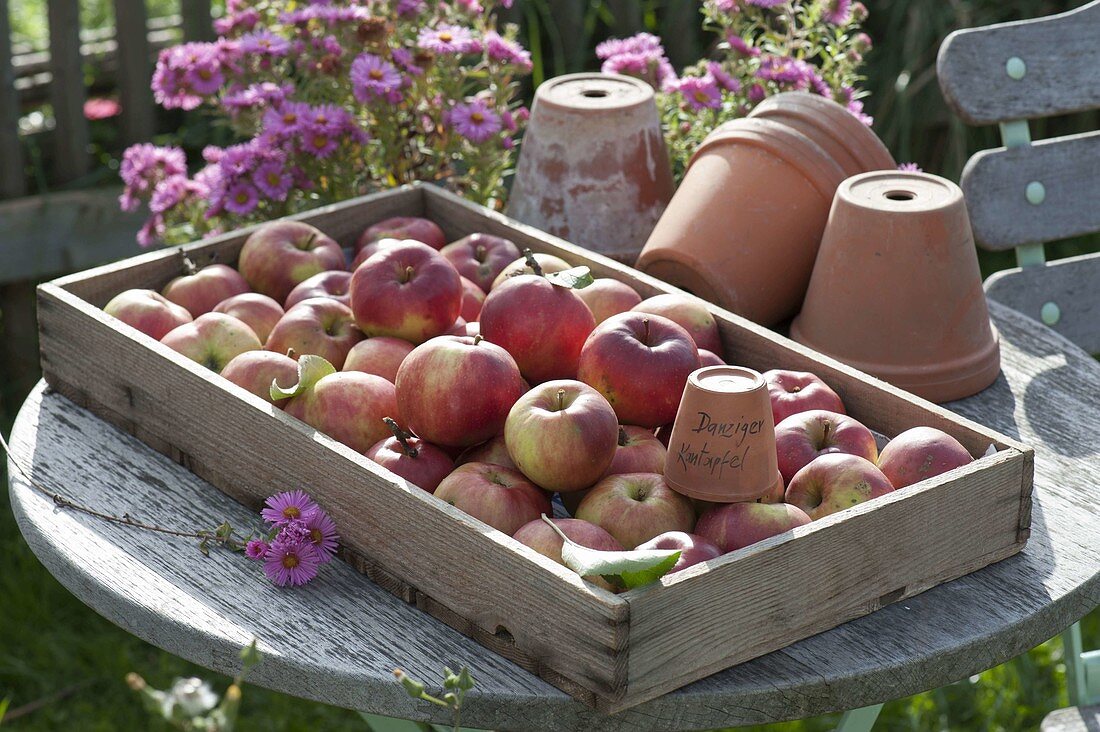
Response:
[{"label": "weathered grey slatted wooden garden chair with mint-green metal frame", "polygon": [[[1046,261],[1044,242],[1100,232],[1100,131],[1032,142],[1027,120],[1100,108],[1100,0],[1059,15],[957,31],[939,48],[947,102],[969,124],[1001,129],[1003,148],[963,172],[975,240],[1014,248],[1019,266],[986,294],[1090,353],[1100,352],[1100,253]],[[1100,490],[1100,489],[1098,489]],[[1043,730],[1100,729],[1100,651],[1064,634],[1069,709]]]}]

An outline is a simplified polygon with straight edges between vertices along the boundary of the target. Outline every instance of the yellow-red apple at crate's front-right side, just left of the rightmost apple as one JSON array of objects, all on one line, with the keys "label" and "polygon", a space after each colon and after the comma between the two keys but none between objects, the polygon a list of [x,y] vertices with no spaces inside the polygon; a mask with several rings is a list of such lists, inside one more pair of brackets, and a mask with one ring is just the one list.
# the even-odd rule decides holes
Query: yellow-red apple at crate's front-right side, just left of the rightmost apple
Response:
[{"label": "yellow-red apple at crate's front-right side, just left of the rightmost apple", "polygon": [[831,454],[814,458],[794,473],[784,500],[816,520],[893,490],[873,462],[855,455]]}]

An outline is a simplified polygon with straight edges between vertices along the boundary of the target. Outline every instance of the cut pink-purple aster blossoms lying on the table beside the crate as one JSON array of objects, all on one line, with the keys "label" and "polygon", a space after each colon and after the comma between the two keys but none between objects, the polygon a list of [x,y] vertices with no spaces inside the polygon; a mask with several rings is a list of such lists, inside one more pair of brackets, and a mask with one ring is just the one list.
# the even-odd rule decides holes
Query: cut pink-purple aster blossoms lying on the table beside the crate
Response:
[{"label": "cut pink-purple aster blossoms lying on the table beside the crate", "polygon": [[305,584],[336,555],[336,522],[305,491],[278,493],[264,506],[260,515],[271,529],[245,545],[245,556],[262,561],[267,579],[279,587]]}]

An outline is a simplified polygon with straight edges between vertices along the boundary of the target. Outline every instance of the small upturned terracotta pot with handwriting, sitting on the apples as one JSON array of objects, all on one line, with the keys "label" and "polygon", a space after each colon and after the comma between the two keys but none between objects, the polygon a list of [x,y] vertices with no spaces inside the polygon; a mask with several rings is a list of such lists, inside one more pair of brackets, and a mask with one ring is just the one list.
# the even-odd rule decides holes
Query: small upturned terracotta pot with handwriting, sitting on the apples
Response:
[{"label": "small upturned terracotta pot with handwriting, sitting on the apples", "polygon": [[783,484],[768,385],[756,371],[693,371],[669,437],[664,480],[693,499],[754,501]]}]

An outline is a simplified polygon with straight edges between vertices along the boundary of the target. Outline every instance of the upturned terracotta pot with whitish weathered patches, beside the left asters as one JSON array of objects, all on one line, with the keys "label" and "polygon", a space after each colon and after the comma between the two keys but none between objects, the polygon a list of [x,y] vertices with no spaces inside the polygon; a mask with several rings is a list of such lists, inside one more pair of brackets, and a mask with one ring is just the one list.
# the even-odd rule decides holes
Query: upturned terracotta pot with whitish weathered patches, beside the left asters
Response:
[{"label": "upturned terracotta pot with whitish weathered patches, beside the left asters", "polygon": [[672,197],[652,88],[610,74],[539,86],[507,214],[632,262]]}]

